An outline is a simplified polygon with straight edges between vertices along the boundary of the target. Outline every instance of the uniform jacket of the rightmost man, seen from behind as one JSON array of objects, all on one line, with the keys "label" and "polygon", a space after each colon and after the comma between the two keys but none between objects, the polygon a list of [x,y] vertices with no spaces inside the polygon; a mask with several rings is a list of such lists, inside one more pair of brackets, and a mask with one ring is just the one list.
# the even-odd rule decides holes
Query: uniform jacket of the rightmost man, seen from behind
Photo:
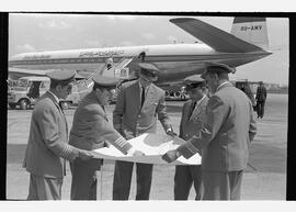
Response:
[{"label": "uniform jacket of the rightmost man, seen from behind", "polygon": [[255,132],[251,101],[227,82],[209,98],[201,133],[179,149],[186,158],[202,152],[203,170],[242,170],[247,167],[249,144]]}]

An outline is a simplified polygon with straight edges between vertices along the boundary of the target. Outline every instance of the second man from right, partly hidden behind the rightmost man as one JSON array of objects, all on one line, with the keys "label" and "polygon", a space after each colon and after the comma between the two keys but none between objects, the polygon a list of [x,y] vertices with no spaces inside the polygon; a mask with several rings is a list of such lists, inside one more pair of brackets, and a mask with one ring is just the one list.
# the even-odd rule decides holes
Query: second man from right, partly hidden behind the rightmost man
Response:
[{"label": "second man from right, partly hidden behind the rightmost man", "polygon": [[[190,100],[183,105],[180,137],[187,141],[193,135],[198,134],[203,127],[208,97],[205,81],[198,75],[187,77],[185,83]],[[203,197],[202,166],[175,166],[174,200],[187,200],[192,185],[194,185],[196,193],[195,200],[201,200]]]}]

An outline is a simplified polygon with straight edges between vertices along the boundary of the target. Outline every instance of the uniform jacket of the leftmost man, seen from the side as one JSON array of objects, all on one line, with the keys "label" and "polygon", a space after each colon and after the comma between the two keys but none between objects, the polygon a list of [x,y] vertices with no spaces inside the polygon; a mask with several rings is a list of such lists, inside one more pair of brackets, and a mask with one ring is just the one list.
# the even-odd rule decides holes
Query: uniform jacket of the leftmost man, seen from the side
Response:
[{"label": "uniform jacket of the leftmost man, seen from the side", "polygon": [[78,149],[68,145],[67,120],[55,98],[46,92],[32,112],[23,167],[31,174],[61,178],[65,159],[72,160]]}]

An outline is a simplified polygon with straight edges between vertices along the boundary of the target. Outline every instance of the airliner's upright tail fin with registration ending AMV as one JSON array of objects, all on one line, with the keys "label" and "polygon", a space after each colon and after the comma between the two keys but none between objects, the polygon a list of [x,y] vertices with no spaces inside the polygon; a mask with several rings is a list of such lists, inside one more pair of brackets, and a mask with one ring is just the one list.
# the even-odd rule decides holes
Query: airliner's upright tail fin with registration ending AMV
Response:
[{"label": "airliner's upright tail fin with registration ending AMV", "polygon": [[231,34],[244,42],[269,49],[266,18],[236,16],[232,22]]}]

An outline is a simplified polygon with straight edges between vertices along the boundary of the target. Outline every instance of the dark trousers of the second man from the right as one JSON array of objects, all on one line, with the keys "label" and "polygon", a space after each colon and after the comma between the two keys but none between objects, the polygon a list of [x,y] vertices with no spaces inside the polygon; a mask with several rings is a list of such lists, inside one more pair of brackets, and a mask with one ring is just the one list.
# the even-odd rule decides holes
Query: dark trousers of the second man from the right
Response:
[{"label": "dark trousers of the second man from the right", "polygon": [[192,185],[196,193],[195,200],[202,200],[202,166],[175,166],[174,200],[187,200]]}]

